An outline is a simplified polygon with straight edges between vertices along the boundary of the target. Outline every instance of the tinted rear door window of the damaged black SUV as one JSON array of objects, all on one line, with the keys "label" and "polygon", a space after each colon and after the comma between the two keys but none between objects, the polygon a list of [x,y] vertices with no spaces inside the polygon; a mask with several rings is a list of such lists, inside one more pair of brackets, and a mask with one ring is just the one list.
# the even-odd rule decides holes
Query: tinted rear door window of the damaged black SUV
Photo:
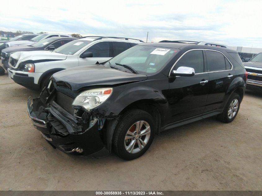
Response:
[{"label": "tinted rear door window of the damaged black SUV", "polygon": [[223,71],[226,70],[225,57],[220,52],[206,50],[207,71]]}]

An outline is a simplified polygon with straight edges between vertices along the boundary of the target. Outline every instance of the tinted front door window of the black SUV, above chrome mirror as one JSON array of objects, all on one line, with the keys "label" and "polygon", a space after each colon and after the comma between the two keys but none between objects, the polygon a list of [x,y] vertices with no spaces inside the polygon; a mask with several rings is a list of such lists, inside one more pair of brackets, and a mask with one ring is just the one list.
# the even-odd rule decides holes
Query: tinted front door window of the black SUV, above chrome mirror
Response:
[{"label": "tinted front door window of the black SUV, above chrome mirror", "polygon": [[204,72],[204,58],[202,50],[193,50],[186,53],[176,64],[175,68],[181,66],[194,68],[195,73]]}]

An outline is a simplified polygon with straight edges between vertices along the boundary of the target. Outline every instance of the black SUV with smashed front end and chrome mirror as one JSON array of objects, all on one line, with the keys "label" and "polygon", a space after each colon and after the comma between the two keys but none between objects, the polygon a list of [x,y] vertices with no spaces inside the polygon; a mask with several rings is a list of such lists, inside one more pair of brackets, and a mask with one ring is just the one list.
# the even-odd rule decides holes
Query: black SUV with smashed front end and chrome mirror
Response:
[{"label": "black SUV with smashed front end and chrome mirror", "polygon": [[143,43],[105,63],[55,73],[28,112],[55,148],[131,160],[164,130],[214,115],[233,121],[246,77],[235,50]]}]

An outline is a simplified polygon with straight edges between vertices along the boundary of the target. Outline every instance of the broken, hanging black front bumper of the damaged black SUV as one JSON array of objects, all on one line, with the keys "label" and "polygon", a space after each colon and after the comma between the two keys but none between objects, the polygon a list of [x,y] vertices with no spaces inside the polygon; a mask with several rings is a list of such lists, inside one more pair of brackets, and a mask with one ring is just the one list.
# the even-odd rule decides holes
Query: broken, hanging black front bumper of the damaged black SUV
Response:
[{"label": "broken, hanging black front bumper of the damaged black SUV", "polygon": [[[33,99],[33,104],[29,98],[27,108],[33,126],[42,133],[51,146],[66,153],[87,157],[109,155],[109,150],[100,137],[97,121],[84,132],[76,133],[73,130],[76,126],[79,127],[78,120],[64,115],[64,111],[60,111],[59,107],[53,105],[47,107],[43,102],[43,97],[46,96],[41,94],[39,98]],[[60,132],[63,130],[63,133],[58,133],[58,130]]]}]

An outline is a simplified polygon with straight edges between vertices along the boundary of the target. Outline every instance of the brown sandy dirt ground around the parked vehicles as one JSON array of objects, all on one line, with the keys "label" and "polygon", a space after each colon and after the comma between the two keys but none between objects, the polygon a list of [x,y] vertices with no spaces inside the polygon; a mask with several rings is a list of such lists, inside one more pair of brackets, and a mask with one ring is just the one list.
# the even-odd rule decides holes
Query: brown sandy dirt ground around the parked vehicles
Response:
[{"label": "brown sandy dirt ground around the parked vehicles", "polygon": [[0,190],[262,190],[262,94],[237,118],[211,117],[157,135],[140,158],[87,159],[53,149],[26,103],[38,92],[0,76]]}]

